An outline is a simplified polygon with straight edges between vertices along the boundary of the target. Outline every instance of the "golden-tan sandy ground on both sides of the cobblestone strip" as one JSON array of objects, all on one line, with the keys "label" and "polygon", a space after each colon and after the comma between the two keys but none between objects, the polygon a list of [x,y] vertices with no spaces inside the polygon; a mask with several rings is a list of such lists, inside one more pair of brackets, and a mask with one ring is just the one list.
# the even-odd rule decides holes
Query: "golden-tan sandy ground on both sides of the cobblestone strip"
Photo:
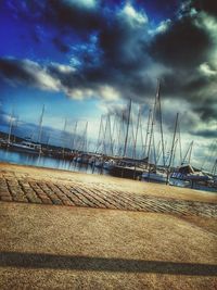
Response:
[{"label": "golden-tan sandy ground on both sides of the cobblestone strip", "polygon": [[[215,193],[107,176],[0,172],[217,203]],[[217,289],[217,218],[0,202],[0,289]]]}]

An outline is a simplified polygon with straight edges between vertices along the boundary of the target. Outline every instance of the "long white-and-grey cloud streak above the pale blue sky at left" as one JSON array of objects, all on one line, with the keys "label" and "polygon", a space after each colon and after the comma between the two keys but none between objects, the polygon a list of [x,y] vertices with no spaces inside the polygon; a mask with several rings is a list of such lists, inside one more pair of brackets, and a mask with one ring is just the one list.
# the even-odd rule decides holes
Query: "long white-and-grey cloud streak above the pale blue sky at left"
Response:
[{"label": "long white-and-grey cloud streak above the pale blue sky at left", "polygon": [[48,66],[42,66],[37,62],[29,60],[20,61],[15,59],[8,59],[8,62],[14,62],[14,65],[20,70],[20,73],[11,78],[4,76],[5,79],[13,85],[23,83],[41,90],[60,91],[64,92],[67,97],[76,100],[99,98],[103,100],[114,101],[122,98],[119,91],[108,85],[97,85],[93,88],[73,88],[73,83],[65,85],[64,81],[62,81],[62,78],[73,78],[73,75],[76,72],[76,70],[69,65],[50,63]]}]

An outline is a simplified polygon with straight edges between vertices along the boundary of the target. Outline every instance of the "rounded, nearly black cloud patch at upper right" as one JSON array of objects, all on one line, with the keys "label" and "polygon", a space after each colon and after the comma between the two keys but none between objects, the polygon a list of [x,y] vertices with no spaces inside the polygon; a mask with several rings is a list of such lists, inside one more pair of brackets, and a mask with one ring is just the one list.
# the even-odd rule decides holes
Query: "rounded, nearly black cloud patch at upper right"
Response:
[{"label": "rounded, nearly black cloud patch at upper right", "polygon": [[183,17],[152,40],[150,53],[171,67],[195,67],[207,60],[210,45],[208,34],[197,27],[193,18]]}]

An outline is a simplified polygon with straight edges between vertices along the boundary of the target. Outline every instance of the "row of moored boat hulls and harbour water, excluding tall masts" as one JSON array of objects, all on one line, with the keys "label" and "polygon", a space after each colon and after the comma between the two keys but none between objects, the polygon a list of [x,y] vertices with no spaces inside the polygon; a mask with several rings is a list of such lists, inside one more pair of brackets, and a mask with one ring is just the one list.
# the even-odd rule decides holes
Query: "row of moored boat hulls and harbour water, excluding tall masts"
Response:
[{"label": "row of moored boat hulls and harbour water, excluding tall masts", "polygon": [[[170,186],[194,188],[199,190],[207,190],[217,192],[215,179],[212,176],[201,174],[201,172],[191,174],[180,174],[174,172],[167,177],[164,169],[156,172],[145,169],[146,163],[142,161],[135,163],[129,159],[111,159],[110,156],[101,156],[94,154],[73,154],[68,153],[65,159],[60,154],[46,155],[31,152],[24,152],[11,149],[0,149],[0,160],[11,164],[24,164],[37,167],[48,167],[54,169],[84,172],[97,175],[111,175],[122,178],[137,179],[145,182],[161,182]],[[59,155],[59,157],[56,157]],[[136,166],[135,166],[136,164]]]}]

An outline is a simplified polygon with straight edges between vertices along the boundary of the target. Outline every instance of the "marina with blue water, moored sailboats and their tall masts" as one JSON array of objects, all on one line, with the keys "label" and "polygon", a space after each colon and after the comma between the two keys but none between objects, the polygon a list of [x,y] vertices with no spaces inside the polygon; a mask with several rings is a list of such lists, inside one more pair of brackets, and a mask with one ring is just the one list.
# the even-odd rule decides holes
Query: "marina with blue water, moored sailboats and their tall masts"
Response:
[{"label": "marina with blue water, moored sailboats and their tall masts", "polygon": [[[146,125],[142,124],[146,109],[136,106],[131,99],[115,114],[101,116],[98,139],[88,137],[88,122],[79,129],[75,122],[73,131],[67,129],[65,118],[56,146],[49,140],[44,143],[43,128],[46,108],[39,117],[31,138],[17,136],[14,113],[12,112],[8,133],[0,133],[0,160],[16,164],[51,167],[66,171],[81,171],[89,174],[105,174],[149,182],[189,187],[217,191],[217,160],[207,172],[192,166],[193,141],[183,150],[181,146],[180,116],[176,114],[173,137],[166,139],[162,117],[161,81],[157,81],[154,104],[149,109]],[[137,116],[136,116],[137,115]],[[35,137],[34,137],[35,136]],[[43,137],[43,138],[42,138]],[[166,139],[166,140],[165,140]],[[217,143],[210,148],[215,156]]]}]

